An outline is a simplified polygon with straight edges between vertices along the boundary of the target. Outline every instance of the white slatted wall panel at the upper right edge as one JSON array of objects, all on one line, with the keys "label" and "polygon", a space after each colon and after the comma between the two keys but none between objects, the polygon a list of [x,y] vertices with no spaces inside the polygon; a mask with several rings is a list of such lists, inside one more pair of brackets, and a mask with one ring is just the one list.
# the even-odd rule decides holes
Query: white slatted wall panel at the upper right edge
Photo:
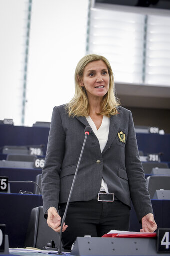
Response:
[{"label": "white slatted wall panel at the upper right edge", "polygon": [[170,86],[170,16],[148,15],[145,84]]}]

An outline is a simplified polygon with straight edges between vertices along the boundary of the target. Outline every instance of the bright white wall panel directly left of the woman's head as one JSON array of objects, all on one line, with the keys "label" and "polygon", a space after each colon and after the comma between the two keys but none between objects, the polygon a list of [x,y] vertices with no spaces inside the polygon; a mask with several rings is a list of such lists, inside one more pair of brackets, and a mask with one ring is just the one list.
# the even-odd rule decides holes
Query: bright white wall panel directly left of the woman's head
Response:
[{"label": "bright white wall panel directly left of the woman's head", "polygon": [[33,1],[25,124],[51,121],[74,95],[74,70],[86,53],[87,0]]}]

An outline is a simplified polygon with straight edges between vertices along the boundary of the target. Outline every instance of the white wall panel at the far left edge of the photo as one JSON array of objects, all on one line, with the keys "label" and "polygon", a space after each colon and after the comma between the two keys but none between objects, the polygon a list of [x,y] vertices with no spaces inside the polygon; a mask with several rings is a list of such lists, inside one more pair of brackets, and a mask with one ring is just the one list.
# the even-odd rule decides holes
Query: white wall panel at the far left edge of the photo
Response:
[{"label": "white wall panel at the far left edge of the photo", "polygon": [[0,0],[0,120],[21,122],[27,1]]}]

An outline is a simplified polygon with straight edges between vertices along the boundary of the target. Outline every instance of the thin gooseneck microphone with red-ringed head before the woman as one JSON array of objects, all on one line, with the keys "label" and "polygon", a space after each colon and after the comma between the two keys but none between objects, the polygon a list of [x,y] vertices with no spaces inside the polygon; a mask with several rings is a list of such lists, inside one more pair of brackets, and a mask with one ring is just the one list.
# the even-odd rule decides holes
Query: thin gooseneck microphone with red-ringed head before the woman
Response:
[{"label": "thin gooseneck microphone with red-ringed head before the woman", "polygon": [[60,254],[60,255],[63,254],[61,252],[61,236],[62,236],[63,224],[64,224],[64,221],[65,221],[68,205],[69,205],[69,202],[70,202],[70,198],[71,198],[72,191],[73,191],[73,188],[74,188],[74,183],[75,183],[75,180],[76,180],[76,176],[77,176],[77,172],[78,172],[78,169],[79,169],[80,161],[81,161],[82,154],[83,154],[83,151],[84,151],[84,146],[85,146],[85,143],[86,143],[86,140],[87,140],[87,136],[90,134],[91,130],[92,130],[92,128],[89,125],[86,126],[85,129],[84,129],[85,138],[84,138],[83,146],[82,146],[81,153],[80,153],[80,156],[79,156],[79,160],[78,160],[78,163],[77,163],[77,168],[76,168],[76,171],[75,171],[75,174],[74,174],[74,179],[73,179],[73,182],[72,182],[72,185],[71,185],[71,189],[70,189],[70,193],[69,193],[69,196],[68,196],[66,208],[65,208],[64,215],[63,215],[62,222],[61,222],[61,229],[60,229],[60,234],[59,234],[59,246],[58,246],[59,248],[58,248],[58,252],[57,252],[57,254]]}]

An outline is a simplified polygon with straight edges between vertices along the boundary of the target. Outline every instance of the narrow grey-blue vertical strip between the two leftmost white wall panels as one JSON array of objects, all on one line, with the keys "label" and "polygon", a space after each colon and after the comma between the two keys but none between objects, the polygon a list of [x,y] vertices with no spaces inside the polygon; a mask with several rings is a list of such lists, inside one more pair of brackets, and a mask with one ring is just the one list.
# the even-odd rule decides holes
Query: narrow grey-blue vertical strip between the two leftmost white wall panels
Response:
[{"label": "narrow grey-blue vertical strip between the two leftmost white wall panels", "polygon": [[28,1],[27,9],[27,23],[26,23],[26,42],[25,42],[25,57],[24,57],[24,72],[23,72],[23,95],[22,95],[22,116],[21,124],[25,123],[25,104],[26,104],[26,84],[27,84],[27,68],[28,68],[28,54],[29,54],[29,35],[31,25],[31,11],[32,11],[32,0]]}]

